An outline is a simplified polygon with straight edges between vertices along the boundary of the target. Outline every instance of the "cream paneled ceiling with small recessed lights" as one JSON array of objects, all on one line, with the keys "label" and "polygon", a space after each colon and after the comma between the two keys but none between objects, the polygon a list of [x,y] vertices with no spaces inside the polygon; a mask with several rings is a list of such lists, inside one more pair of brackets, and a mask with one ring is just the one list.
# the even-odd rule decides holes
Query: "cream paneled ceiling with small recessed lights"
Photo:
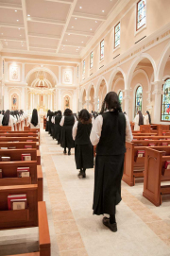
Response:
[{"label": "cream paneled ceiling with small recessed lights", "polygon": [[0,0],[3,51],[80,56],[120,0]]}]

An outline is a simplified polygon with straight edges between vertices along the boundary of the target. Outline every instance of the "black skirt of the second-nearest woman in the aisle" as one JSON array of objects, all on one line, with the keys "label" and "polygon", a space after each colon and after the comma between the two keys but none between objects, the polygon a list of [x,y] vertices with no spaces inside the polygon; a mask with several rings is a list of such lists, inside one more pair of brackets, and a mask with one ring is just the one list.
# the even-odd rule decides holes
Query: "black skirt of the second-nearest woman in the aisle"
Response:
[{"label": "black skirt of the second-nearest woman in the aisle", "polygon": [[93,168],[93,145],[75,145],[76,169]]}]

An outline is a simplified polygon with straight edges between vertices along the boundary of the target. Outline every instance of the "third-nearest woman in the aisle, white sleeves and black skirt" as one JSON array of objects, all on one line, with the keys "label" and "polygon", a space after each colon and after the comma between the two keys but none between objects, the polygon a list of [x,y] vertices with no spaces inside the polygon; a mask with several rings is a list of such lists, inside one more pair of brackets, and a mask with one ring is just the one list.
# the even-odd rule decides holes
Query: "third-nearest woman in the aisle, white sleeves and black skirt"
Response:
[{"label": "third-nearest woman in the aisle, white sleeves and black skirt", "polygon": [[72,137],[72,128],[76,122],[76,117],[70,109],[66,109],[60,120],[59,125],[61,128],[60,146],[64,148],[63,153],[66,154],[66,148],[68,148],[68,155],[71,155],[71,148],[75,147],[75,143]]}]

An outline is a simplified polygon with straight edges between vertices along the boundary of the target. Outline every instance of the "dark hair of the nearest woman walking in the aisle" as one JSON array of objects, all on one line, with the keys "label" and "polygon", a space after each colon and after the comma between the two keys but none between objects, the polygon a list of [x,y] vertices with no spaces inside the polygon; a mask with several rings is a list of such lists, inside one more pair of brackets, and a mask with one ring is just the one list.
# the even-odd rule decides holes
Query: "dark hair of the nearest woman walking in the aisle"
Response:
[{"label": "dark hair of the nearest woman walking in the aisle", "polygon": [[110,93],[106,94],[100,113],[103,113],[106,110],[122,112],[118,95],[115,92],[110,92]]}]

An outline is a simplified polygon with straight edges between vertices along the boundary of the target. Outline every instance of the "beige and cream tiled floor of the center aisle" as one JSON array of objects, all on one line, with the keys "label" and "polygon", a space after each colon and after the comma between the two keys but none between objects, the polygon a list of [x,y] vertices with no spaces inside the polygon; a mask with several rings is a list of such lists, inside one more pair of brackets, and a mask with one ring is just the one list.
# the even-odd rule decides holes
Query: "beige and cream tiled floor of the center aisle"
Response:
[{"label": "beige and cream tiled floor of the center aisle", "polygon": [[[58,245],[54,250],[52,241],[52,256],[169,255],[170,247],[155,230],[155,226],[165,223],[147,208],[148,201],[142,203],[139,198],[143,183],[134,188],[123,183],[124,198],[116,213],[118,231],[112,233],[102,225],[102,216],[93,215],[93,169],[87,170],[86,179],[78,179],[74,150],[71,156],[63,155],[63,149],[44,130],[41,137],[43,171],[53,215],[50,217]],[[149,223],[141,213],[151,214]],[[165,232],[169,231],[168,227]]]}]

